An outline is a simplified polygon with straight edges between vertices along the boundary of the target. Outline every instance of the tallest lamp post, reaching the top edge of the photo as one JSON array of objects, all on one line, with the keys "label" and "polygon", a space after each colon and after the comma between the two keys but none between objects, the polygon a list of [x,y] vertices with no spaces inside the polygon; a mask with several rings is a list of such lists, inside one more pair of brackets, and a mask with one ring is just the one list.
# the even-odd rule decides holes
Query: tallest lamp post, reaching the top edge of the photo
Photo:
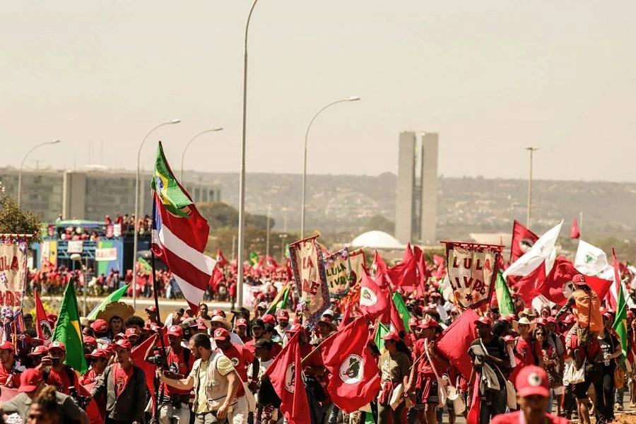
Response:
[{"label": "tallest lamp post, reaching the top edge of the photo", "polygon": [[236,297],[238,307],[243,306],[243,249],[245,249],[245,127],[247,124],[247,30],[249,29],[249,20],[252,19],[252,12],[257,1],[252,2],[247,15],[247,23],[245,23],[245,43],[243,45],[243,127],[241,136],[241,173],[239,182],[239,233],[238,233],[238,258],[237,268],[238,276],[236,278]]}]

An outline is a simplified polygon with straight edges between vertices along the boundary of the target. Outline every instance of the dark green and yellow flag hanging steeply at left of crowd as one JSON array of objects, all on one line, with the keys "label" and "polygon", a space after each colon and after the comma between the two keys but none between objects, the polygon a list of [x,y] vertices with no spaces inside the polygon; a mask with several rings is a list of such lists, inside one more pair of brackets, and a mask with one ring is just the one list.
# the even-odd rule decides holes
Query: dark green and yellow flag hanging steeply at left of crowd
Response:
[{"label": "dark green and yellow flag hanging steeply at left of crowd", "polygon": [[66,347],[66,359],[64,363],[66,365],[69,365],[73,370],[79,371],[82,374],[88,371],[88,365],[84,357],[84,347],[73,280],[69,281],[69,284],[66,285],[66,290],[64,290],[64,299],[62,299],[57,324],[55,324],[53,331],[52,343],[54,341],[64,343]]}]

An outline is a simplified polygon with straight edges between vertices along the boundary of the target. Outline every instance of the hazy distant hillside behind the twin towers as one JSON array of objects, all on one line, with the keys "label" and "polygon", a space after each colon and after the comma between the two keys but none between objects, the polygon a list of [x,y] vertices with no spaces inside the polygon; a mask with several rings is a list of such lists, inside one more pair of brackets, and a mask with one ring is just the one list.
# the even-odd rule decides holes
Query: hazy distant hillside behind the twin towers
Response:
[{"label": "hazy distant hillside behind the twin towers", "polygon": [[[238,205],[238,174],[197,172],[196,178],[218,182],[223,187],[222,200]],[[636,183],[535,180],[533,186],[536,232],[561,218],[569,226],[572,218],[582,212],[582,231],[587,237],[636,237]],[[391,173],[373,177],[309,175],[307,228],[355,233],[372,216],[394,220],[395,187],[396,176]],[[440,177],[438,237],[465,238],[469,232],[510,231],[512,220],[526,221],[527,190],[527,181],[521,179]],[[301,175],[247,175],[247,211],[266,214],[271,204],[275,230],[300,228],[301,197]]]}]

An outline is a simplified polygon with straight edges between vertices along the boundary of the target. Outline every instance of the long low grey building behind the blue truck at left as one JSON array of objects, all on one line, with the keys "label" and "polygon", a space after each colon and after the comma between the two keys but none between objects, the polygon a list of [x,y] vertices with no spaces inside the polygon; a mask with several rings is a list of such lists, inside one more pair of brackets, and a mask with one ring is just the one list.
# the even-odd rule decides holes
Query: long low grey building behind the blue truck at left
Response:
[{"label": "long low grey building behind the blue truck at left", "polygon": [[[139,211],[152,213],[152,175],[141,175]],[[0,182],[8,193],[18,194],[18,170],[0,169]],[[136,172],[111,170],[25,170],[22,173],[22,206],[35,211],[43,222],[64,219],[103,220],[135,210]],[[218,184],[186,182],[184,188],[196,203],[220,201]]]}]

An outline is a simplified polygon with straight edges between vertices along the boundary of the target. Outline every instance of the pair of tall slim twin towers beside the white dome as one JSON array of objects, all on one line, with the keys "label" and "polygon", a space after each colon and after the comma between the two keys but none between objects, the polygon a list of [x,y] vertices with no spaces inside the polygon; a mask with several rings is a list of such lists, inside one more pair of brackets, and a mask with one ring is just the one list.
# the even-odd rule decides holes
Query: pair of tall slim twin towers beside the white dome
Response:
[{"label": "pair of tall slim twin towers beside the white dome", "polygon": [[437,242],[437,133],[405,131],[399,136],[395,237],[406,244]]}]

